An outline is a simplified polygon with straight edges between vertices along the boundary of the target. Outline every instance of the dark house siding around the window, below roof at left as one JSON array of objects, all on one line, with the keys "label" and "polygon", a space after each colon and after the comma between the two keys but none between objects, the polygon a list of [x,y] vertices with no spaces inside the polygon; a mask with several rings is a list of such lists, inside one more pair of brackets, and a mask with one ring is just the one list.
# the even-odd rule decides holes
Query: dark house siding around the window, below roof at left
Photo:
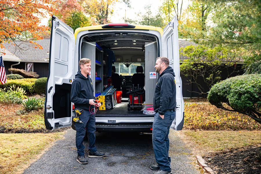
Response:
[{"label": "dark house siding around the window, below roof at left", "polygon": [[[18,63],[18,62],[13,62],[13,61],[3,61],[3,62],[4,62],[6,74],[11,74],[8,71],[8,68],[10,68],[11,65],[13,65],[13,64],[17,64]],[[13,66],[13,68],[23,69],[24,70],[26,63],[30,63],[30,61],[28,61],[28,62],[21,62],[19,65]],[[49,64],[48,63],[35,63],[34,62],[34,72],[36,72],[39,75],[39,78],[41,78],[41,77],[48,77],[48,71],[49,71]]]}]

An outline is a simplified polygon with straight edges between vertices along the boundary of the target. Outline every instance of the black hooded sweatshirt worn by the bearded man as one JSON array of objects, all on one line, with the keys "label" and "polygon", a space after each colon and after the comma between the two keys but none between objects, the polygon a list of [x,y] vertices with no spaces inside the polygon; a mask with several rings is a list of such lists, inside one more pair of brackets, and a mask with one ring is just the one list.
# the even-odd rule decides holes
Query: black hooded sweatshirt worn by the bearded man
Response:
[{"label": "black hooded sweatshirt worn by the bearded man", "polygon": [[176,108],[176,82],[173,69],[168,66],[157,81],[153,98],[153,108],[155,112],[164,115],[166,110]]}]

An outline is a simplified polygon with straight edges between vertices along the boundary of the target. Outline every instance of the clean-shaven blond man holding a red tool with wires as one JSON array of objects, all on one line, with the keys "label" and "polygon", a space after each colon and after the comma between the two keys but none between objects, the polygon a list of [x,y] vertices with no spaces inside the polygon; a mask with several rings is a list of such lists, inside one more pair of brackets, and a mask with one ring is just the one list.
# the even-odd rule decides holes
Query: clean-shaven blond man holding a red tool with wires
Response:
[{"label": "clean-shaven blond man holding a red tool with wires", "polygon": [[[95,105],[101,106],[100,103],[95,103],[95,97],[93,96],[93,83],[89,76],[91,70],[91,60],[83,58],[79,61],[80,71],[75,75],[71,90],[71,102],[74,103],[75,108],[83,109],[80,115],[80,119],[83,122],[75,123],[76,129],[76,148],[77,148],[77,161],[80,164],[88,164],[87,159],[84,156],[83,140],[86,133],[88,133],[89,141],[89,154],[88,157],[104,157],[104,153],[97,151],[95,146],[95,116],[90,113]],[[93,105],[93,106],[92,106]]]}]

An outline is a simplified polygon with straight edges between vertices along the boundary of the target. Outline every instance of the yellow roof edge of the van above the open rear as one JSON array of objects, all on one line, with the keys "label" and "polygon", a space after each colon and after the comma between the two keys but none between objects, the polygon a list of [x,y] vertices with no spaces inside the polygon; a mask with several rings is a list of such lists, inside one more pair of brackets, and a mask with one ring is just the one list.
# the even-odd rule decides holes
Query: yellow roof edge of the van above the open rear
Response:
[{"label": "yellow roof edge of the van above the open rear", "polygon": [[[88,26],[88,27],[82,27],[82,28],[77,28],[76,30],[75,30],[75,32],[74,32],[74,36],[75,36],[75,39],[76,39],[76,36],[77,36],[77,34],[78,34],[78,32],[80,32],[80,31],[86,31],[86,30],[104,30],[104,29],[106,29],[106,30],[108,30],[108,28],[102,28],[102,26],[104,26],[104,25],[106,25],[106,24],[103,24],[103,25],[97,25],[97,26]],[[153,26],[143,26],[143,25],[134,25],[135,26],[135,28],[128,28],[128,29],[135,29],[135,30],[156,30],[156,31],[158,31],[158,32],[160,32],[160,35],[162,36],[162,34],[163,34],[163,30],[162,30],[162,28],[160,28],[160,27],[153,27]],[[114,30],[114,29],[116,29],[116,28],[112,28],[112,30]],[[117,29],[127,29],[127,28],[117,28]],[[116,29],[116,30],[117,30]]]}]

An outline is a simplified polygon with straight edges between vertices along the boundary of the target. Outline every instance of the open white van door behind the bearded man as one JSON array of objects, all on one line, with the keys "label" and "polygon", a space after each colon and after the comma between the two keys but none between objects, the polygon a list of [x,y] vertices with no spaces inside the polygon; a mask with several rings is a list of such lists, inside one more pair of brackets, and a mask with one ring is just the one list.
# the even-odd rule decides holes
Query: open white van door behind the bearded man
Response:
[{"label": "open white van door behind the bearded man", "polygon": [[174,17],[163,29],[162,56],[168,57],[169,66],[173,68],[176,76],[177,110],[176,118],[172,122],[171,128],[175,130],[182,130],[184,124],[184,101],[182,97],[182,81],[180,77],[180,54],[177,26],[177,17]]}]

